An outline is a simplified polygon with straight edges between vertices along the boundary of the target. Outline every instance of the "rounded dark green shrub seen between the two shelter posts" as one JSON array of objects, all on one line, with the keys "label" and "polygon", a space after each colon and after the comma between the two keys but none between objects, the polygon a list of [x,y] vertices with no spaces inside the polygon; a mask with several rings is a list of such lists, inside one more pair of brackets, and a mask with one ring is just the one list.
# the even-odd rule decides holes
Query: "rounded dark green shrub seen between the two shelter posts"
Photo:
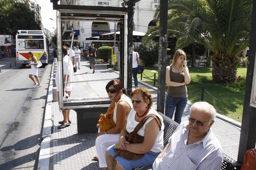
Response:
[{"label": "rounded dark green shrub seen between the two shelter posts", "polygon": [[142,45],[140,58],[143,60],[145,66],[153,66],[158,62],[158,47],[159,44],[152,40]]}]

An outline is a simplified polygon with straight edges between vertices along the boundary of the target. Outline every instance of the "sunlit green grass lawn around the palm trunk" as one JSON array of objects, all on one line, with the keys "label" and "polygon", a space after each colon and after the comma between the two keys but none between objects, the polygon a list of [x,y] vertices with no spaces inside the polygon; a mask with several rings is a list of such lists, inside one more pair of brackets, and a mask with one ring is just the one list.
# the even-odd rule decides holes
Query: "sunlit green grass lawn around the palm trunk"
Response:
[{"label": "sunlit green grass lawn around the palm trunk", "polygon": [[[158,68],[144,67],[142,81],[154,85],[154,73],[157,71],[155,87],[158,86]],[[245,97],[245,79],[247,68],[237,68],[236,83],[214,83],[211,74],[212,68],[198,67],[189,68],[191,82],[187,85],[189,102],[201,101],[202,87],[204,101],[216,108],[219,114],[225,115],[233,120],[242,121],[243,99]],[[140,80],[138,75],[138,79]],[[167,91],[167,86],[166,86]]]}]

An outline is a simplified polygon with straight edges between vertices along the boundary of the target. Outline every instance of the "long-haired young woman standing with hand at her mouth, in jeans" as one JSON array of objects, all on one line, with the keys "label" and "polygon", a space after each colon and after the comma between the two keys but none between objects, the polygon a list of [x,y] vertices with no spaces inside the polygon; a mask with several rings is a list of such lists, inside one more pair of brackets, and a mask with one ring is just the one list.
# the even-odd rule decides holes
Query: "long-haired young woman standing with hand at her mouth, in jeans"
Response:
[{"label": "long-haired young woman standing with hand at her mouth, in jeans", "polygon": [[[189,68],[187,68],[186,53],[176,50],[172,64],[166,67],[166,84],[168,92],[166,97],[165,115],[181,123],[184,109],[187,105],[187,87],[190,83]],[[175,113],[174,113],[175,111]]]}]

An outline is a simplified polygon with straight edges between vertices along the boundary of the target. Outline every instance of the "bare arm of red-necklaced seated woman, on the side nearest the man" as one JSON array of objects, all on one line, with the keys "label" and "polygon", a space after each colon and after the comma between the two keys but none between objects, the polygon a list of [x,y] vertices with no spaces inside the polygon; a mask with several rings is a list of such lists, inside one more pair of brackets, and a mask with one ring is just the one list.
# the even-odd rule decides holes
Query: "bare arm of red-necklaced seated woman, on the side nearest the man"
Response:
[{"label": "bare arm of red-necklaced seated woman, on the side nearest the man", "polygon": [[152,149],[155,144],[155,140],[157,139],[159,133],[159,126],[157,120],[152,119],[146,124],[144,141],[142,144],[126,144],[126,150],[132,153],[147,153]]}]

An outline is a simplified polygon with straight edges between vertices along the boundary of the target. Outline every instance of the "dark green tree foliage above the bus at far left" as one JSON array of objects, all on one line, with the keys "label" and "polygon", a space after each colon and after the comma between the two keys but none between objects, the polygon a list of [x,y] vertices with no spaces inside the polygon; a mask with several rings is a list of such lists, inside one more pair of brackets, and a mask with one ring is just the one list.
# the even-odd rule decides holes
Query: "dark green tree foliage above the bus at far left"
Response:
[{"label": "dark green tree foliage above the bus at far left", "polygon": [[41,29],[35,20],[34,11],[22,2],[14,0],[0,1],[0,34],[16,35],[19,29]]}]

